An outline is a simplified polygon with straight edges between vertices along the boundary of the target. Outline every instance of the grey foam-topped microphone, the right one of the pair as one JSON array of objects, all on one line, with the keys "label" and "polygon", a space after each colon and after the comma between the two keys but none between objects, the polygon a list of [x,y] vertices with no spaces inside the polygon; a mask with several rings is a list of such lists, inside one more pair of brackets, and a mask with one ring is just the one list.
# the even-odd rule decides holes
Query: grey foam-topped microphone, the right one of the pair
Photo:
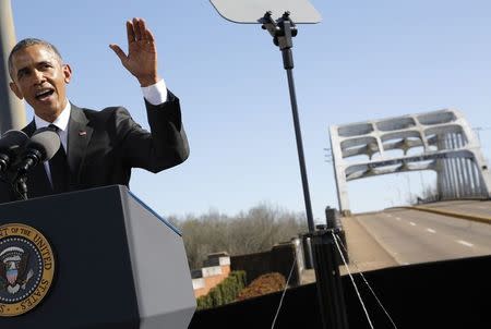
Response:
[{"label": "grey foam-topped microphone, the right one of the pair", "polygon": [[39,162],[51,159],[60,148],[60,136],[49,127],[41,127],[34,132],[25,145],[25,153],[17,167],[19,176],[25,175]]}]

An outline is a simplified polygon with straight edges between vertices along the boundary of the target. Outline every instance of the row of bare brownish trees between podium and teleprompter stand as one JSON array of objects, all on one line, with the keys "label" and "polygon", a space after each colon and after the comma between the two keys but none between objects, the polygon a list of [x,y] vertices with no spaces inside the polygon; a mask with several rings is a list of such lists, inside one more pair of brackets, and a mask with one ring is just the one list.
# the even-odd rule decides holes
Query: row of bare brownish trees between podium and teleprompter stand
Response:
[{"label": "row of bare brownish trees between podium and teleprompter stand", "polygon": [[200,268],[212,253],[230,255],[270,251],[279,242],[289,241],[307,231],[303,215],[268,204],[260,204],[233,217],[211,210],[195,217],[168,218],[182,231],[190,268]]}]

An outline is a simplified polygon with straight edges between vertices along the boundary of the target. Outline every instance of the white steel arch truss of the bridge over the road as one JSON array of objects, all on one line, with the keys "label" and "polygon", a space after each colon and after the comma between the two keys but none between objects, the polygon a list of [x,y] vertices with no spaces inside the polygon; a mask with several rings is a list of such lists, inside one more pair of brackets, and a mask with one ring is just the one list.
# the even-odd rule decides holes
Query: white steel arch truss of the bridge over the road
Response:
[{"label": "white steel arch truss of the bridge over the road", "polygon": [[344,214],[350,211],[349,181],[408,171],[435,171],[442,200],[490,197],[491,174],[479,139],[457,110],[332,125],[330,135]]}]

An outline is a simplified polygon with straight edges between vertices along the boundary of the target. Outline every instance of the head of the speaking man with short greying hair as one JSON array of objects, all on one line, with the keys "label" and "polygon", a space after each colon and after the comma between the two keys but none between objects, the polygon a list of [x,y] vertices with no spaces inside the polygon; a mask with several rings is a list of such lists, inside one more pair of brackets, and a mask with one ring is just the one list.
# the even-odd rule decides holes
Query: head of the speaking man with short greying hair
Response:
[{"label": "head of the speaking man with short greying hair", "polygon": [[48,122],[55,121],[67,106],[65,84],[71,69],[51,49],[33,45],[13,53],[10,88]]}]

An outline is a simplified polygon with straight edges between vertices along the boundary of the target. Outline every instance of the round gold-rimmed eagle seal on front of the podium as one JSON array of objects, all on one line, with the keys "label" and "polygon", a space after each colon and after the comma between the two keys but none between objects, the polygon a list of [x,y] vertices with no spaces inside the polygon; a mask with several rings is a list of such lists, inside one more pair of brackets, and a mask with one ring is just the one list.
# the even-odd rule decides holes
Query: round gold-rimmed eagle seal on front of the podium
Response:
[{"label": "round gold-rimmed eagle seal on front of the podium", "polygon": [[0,226],[0,317],[17,316],[38,305],[55,275],[51,246],[36,229]]}]

